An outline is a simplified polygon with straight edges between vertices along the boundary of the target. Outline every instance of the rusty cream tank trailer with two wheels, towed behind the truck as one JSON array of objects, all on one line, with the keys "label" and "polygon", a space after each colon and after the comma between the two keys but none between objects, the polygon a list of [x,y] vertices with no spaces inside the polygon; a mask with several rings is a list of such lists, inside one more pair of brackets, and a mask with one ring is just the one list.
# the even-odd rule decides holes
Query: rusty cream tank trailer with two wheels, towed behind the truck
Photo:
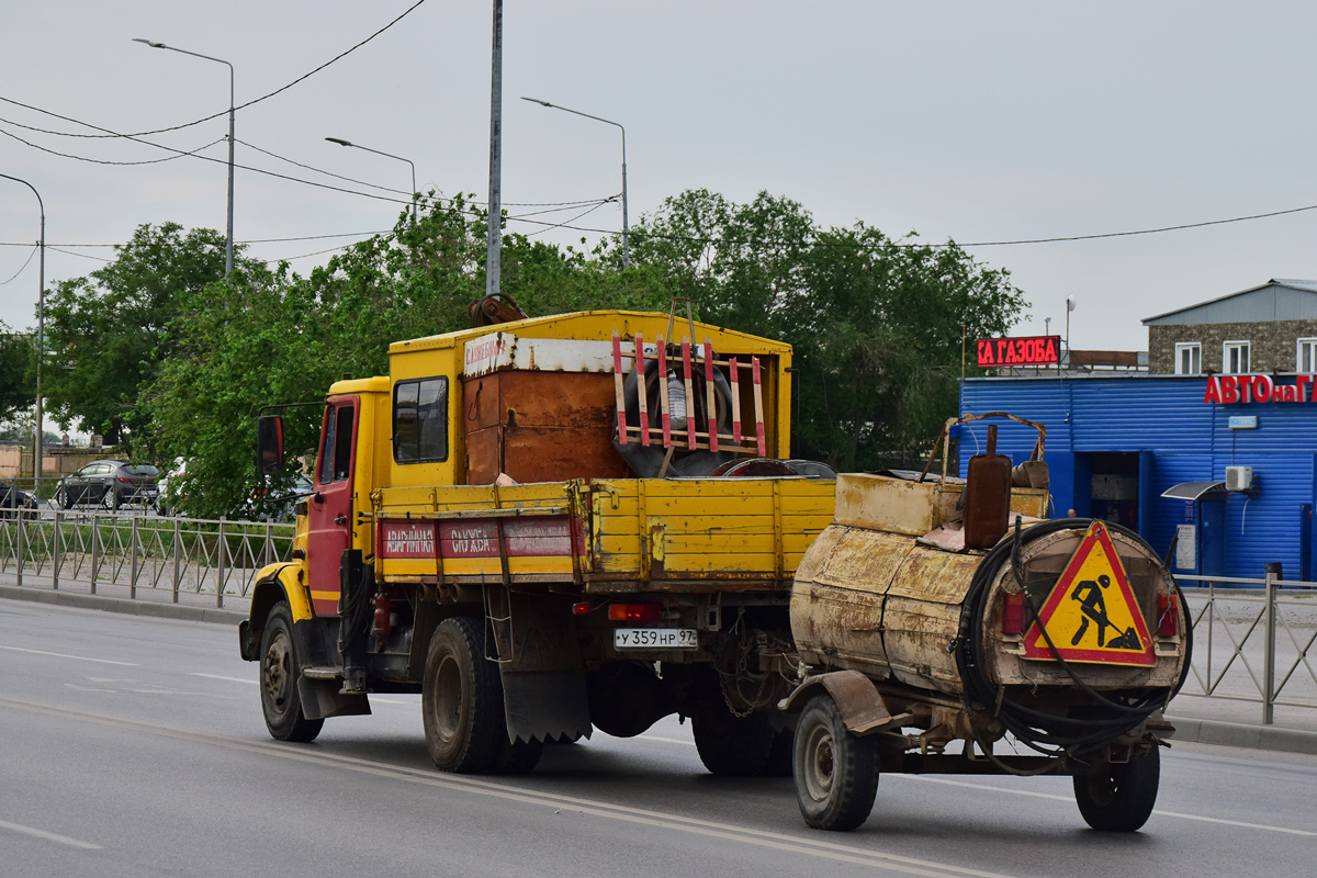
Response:
[{"label": "rusty cream tank trailer with two wheels, towed behind the truck", "polygon": [[806,823],[863,823],[880,771],[1056,773],[1089,825],[1142,827],[1192,649],[1156,552],[1114,524],[1042,520],[1046,488],[1019,487],[1010,532],[964,549],[948,533],[968,523],[947,520],[963,486],[935,482],[921,509],[897,482],[839,477],[792,590],[806,675],[781,707]]}]

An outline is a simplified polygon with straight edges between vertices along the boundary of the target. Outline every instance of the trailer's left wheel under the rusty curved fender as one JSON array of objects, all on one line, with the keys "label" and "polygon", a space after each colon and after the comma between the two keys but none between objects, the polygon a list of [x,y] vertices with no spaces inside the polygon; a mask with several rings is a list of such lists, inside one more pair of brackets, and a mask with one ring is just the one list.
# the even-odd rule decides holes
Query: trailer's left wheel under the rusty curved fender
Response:
[{"label": "trailer's left wheel under the rusty curved fender", "polygon": [[842,721],[830,695],[810,699],[795,724],[795,800],[815,829],[855,829],[878,792],[878,752]]}]

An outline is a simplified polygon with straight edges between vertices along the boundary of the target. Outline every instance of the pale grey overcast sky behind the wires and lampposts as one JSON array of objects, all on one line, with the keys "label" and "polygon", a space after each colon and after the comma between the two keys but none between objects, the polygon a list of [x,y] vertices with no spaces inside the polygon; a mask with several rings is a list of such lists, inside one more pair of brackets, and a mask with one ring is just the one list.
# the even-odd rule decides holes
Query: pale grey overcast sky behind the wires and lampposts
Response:
[{"label": "pale grey overcast sky behind the wires and lampposts", "polygon": [[[0,97],[128,133],[228,108],[284,86],[414,0],[0,0]],[[504,203],[620,191],[616,129],[518,100],[531,95],[623,122],[631,215],[707,187],[766,190],[824,225],[863,220],[928,241],[1126,232],[1317,204],[1312,34],[1301,3],[776,3],[507,0]],[[489,175],[490,4],[427,0],[370,43],[237,115],[237,161],[348,188],[262,155],[407,190],[406,165],[327,143],[341,137],[416,163],[420,188],[477,192]],[[0,132],[113,162],[169,153],[24,130],[91,129],[0,103]],[[192,150],[225,117],[153,136]],[[215,142],[204,155],[224,159]],[[227,170],[179,158],[94,165],[0,136],[0,172],[36,186],[49,244],[112,257],[144,222],[224,228]],[[238,170],[238,241],[377,232],[400,205]],[[369,191],[369,190],[367,190]],[[387,195],[387,194],[385,194]],[[512,212],[533,208],[510,208]],[[548,215],[564,220],[574,213]],[[578,225],[620,229],[605,205]],[[539,226],[514,225],[518,230]],[[1022,332],[1064,328],[1075,348],[1146,349],[1139,323],[1266,282],[1317,278],[1317,211],[1097,241],[973,247],[1031,303]],[[38,237],[36,199],[0,180],[0,242]],[[562,244],[579,233],[545,233]],[[254,244],[275,259],[354,238]],[[0,246],[0,282],[26,246]],[[299,258],[307,272],[329,254]],[[47,287],[95,259],[49,251]],[[0,286],[0,320],[33,324],[37,259]]]}]

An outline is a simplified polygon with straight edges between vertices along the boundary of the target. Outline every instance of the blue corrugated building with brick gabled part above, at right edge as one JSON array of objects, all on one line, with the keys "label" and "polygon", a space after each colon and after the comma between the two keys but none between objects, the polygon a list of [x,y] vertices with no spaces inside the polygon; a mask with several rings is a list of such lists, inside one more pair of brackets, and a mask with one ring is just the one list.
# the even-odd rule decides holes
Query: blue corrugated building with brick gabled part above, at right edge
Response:
[{"label": "blue corrugated building with brick gabled part above, at right edge", "polygon": [[[963,411],[1047,426],[1054,516],[1117,521],[1163,553],[1179,536],[1177,573],[1262,577],[1280,562],[1313,581],[1317,283],[1272,280],[1144,324],[1163,374],[971,378]],[[1034,430],[996,423],[998,452],[1027,459]],[[985,433],[961,428],[961,470]]]}]

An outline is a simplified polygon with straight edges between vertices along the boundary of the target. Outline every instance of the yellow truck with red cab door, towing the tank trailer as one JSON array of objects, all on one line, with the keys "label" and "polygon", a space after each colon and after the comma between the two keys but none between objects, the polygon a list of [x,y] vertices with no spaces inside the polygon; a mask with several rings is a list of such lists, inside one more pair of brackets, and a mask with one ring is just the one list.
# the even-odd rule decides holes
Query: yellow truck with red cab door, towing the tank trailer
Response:
[{"label": "yellow truck with red cab door, towing the tank trailer", "polygon": [[[792,350],[624,311],[400,341],[328,390],[294,559],[240,631],[270,733],[419,692],[435,763],[689,716],[720,774],[789,770],[788,606],[835,474],[786,461]],[[263,471],[283,461],[278,415]]]}]

